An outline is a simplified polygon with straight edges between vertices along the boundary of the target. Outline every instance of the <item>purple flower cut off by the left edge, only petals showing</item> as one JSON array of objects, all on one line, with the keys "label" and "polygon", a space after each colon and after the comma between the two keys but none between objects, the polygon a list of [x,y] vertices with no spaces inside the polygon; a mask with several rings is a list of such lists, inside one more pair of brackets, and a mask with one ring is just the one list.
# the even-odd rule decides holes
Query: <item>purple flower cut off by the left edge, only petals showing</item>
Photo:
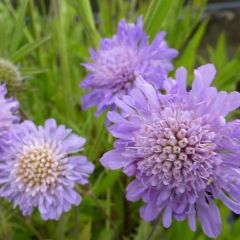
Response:
[{"label": "purple flower cut off by the left edge, only petals showing", "polygon": [[7,89],[0,85],[0,153],[3,146],[8,144],[8,131],[13,123],[18,121],[16,115],[18,102],[12,98],[6,98]]}]

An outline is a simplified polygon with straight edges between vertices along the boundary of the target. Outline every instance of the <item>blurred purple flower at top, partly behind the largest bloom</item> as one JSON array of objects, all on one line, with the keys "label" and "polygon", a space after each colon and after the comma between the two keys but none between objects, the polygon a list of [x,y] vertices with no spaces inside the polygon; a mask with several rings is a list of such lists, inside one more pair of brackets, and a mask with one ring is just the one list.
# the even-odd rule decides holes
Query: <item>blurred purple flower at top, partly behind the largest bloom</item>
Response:
[{"label": "blurred purple flower at top, partly behind the largest bloom", "polygon": [[100,114],[114,108],[114,99],[129,93],[138,75],[156,88],[162,87],[177,51],[168,47],[164,32],[148,44],[142,25],[142,17],[136,25],[121,20],[112,39],[103,39],[98,51],[90,50],[92,62],[83,64],[89,74],[80,85],[89,90],[82,98],[84,109],[97,106]]}]

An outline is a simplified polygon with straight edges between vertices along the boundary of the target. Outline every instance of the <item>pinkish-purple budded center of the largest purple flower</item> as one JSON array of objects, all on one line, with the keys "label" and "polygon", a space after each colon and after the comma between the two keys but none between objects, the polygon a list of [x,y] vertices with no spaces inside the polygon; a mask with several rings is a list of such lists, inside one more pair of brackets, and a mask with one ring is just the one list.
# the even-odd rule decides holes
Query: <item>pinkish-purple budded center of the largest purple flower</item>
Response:
[{"label": "pinkish-purple budded center of the largest purple flower", "polygon": [[219,159],[215,133],[203,119],[191,111],[167,108],[142,126],[132,149],[146,184],[169,186],[176,193],[206,188]]}]

